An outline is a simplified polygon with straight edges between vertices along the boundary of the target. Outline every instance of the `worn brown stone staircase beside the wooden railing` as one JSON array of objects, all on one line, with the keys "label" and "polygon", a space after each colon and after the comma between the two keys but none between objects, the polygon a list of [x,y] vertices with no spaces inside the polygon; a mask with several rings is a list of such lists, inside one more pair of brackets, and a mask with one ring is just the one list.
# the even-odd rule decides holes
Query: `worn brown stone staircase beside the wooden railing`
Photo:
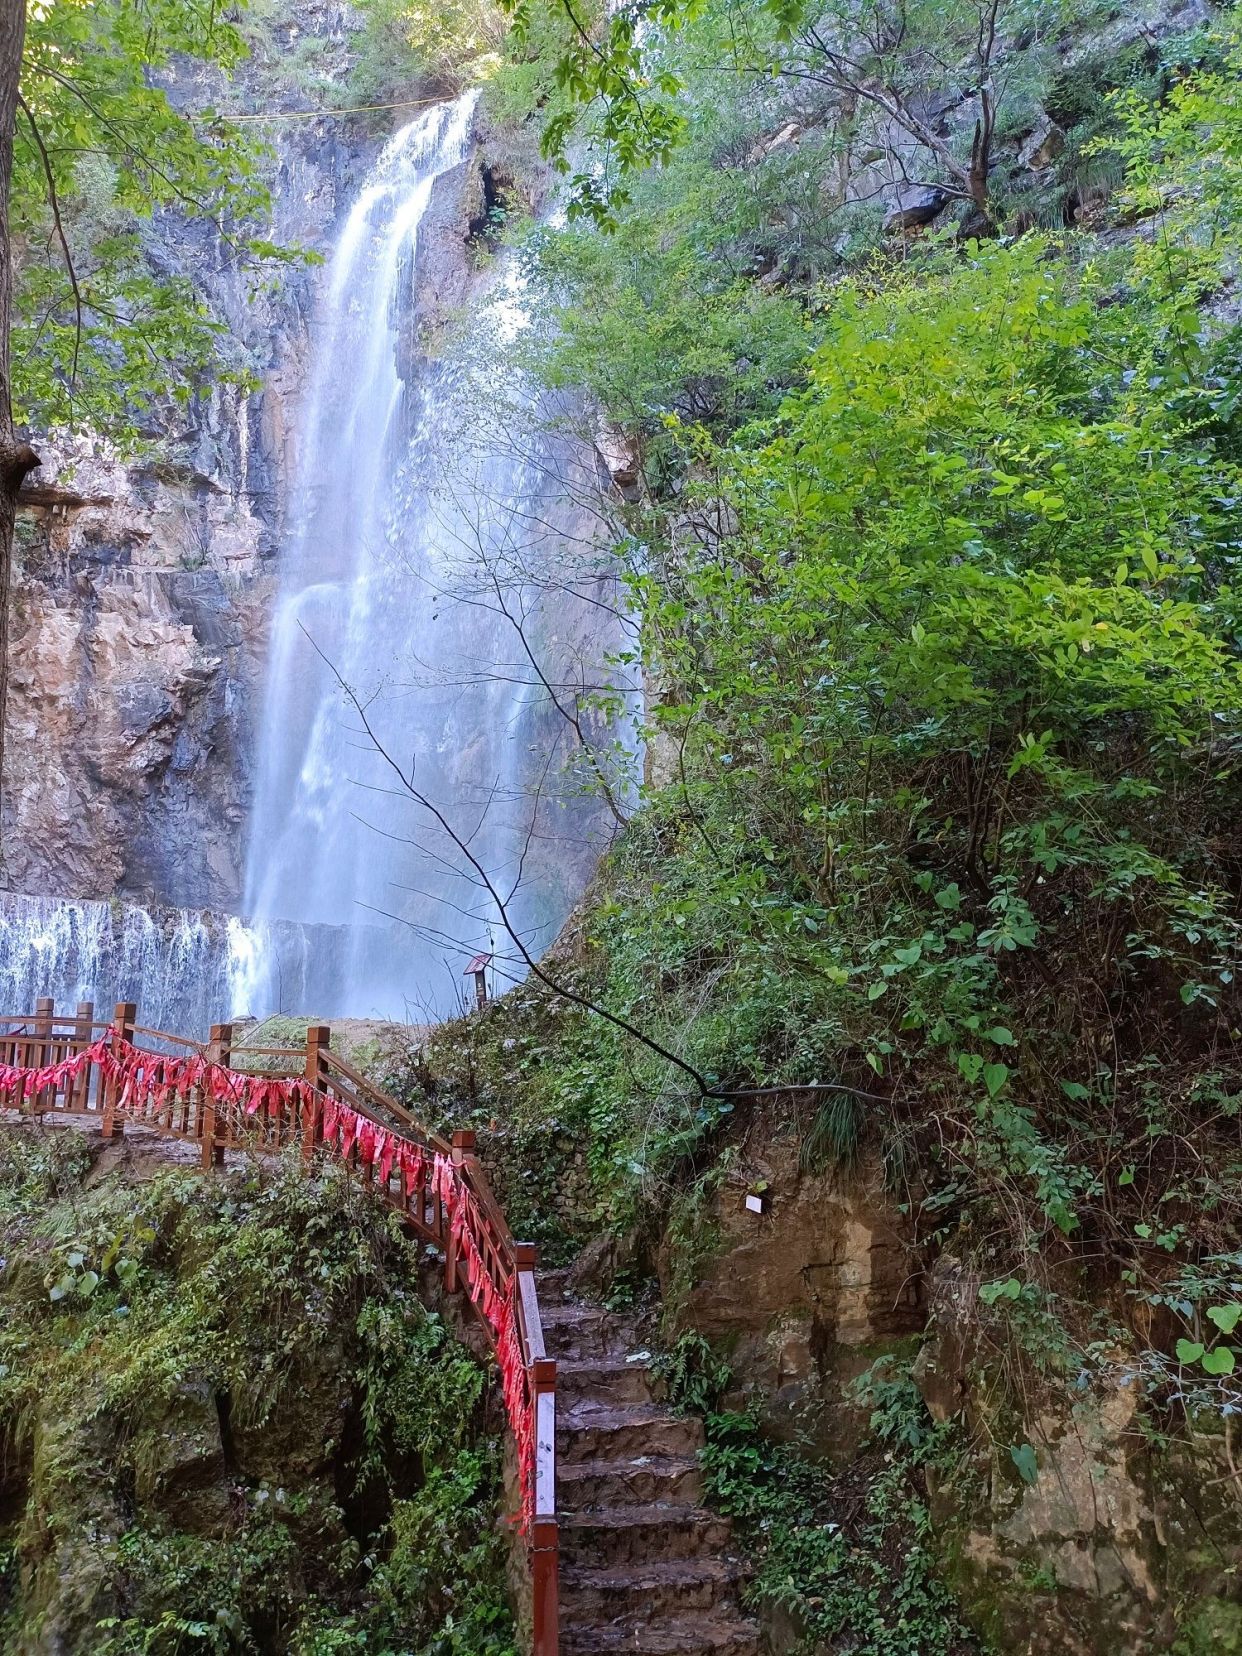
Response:
[{"label": "worn brown stone staircase beside the wooden railing", "polygon": [[540,1272],[556,1358],[561,1656],[758,1656],[730,1525],[702,1505],[702,1423],[652,1399],[633,1321]]}]

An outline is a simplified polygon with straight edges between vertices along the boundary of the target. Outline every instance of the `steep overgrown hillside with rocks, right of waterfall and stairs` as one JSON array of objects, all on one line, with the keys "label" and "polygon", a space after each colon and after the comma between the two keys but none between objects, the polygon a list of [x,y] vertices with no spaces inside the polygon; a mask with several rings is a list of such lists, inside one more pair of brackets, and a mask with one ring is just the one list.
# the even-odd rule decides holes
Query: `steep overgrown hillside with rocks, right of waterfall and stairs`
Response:
[{"label": "steep overgrown hillside with rocks, right of waterfall and stairs", "polygon": [[753,93],[739,17],[528,242],[525,361],[628,445],[647,783],[411,1091],[657,1295],[775,1649],[1235,1649],[1235,25],[1007,13],[980,195],[970,8],[854,109],[843,12],[747,12]]}]

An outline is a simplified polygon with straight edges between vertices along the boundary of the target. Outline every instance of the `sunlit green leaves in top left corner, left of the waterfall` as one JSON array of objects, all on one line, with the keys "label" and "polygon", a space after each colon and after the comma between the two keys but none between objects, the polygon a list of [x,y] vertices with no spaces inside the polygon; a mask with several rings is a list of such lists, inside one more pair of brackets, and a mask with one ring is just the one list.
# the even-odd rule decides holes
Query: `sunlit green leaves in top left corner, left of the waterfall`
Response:
[{"label": "sunlit green leaves in top left corner, left of the waterfall", "polygon": [[209,369],[250,383],[220,316],[187,275],[147,257],[144,232],[154,219],[172,238],[174,214],[202,220],[255,280],[295,257],[263,235],[262,146],[166,91],[177,71],[229,71],[243,55],[215,7],[28,7],[10,209],[18,419],[132,442],[152,409],[187,402]]}]

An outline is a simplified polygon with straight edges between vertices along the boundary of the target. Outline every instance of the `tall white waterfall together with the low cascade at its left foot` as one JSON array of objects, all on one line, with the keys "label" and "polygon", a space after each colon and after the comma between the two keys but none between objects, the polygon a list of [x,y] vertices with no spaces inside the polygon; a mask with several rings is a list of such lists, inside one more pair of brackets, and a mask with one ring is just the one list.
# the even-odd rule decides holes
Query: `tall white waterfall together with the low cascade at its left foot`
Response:
[{"label": "tall white waterfall together with the low cascade at its left foot", "polygon": [[421,338],[437,252],[455,238],[459,270],[465,252],[475,96],[396,132],[323,272],[243,914],[0,893],[0,1012],[136,1000],[202,1035],[277,1012],[422,1020],[474,992],[479,952],[497,989],[522,977],[590,878],[609,818],[583,778],[608,729],[585,753],[593,715],[565,710],[616,643],[595,455],[493,366],[528,325],[503,258],[460,349]]}]

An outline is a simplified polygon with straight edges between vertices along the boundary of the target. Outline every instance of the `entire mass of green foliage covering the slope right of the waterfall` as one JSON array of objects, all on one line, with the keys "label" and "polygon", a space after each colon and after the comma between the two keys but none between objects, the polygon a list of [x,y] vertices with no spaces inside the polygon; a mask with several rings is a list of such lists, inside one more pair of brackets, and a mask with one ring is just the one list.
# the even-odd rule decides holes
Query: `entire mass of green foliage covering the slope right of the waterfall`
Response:
[{"label": "entire mass of green foliage covering the slope right of the waterfall", "polygon": [[[671,1239],[674,1298],[745,1090],[782,1085],[763,1108],[805,1171],[881,1156],[919,1240],[974,1254],[1007,1379],[1012,1348],[1043,1384],[1141,1348],[1083,1308],[1075,1260],[1119,1302],[1237,1247],[1242,349],[1199,303],[1237,258],[1232,187],[1209,235],[1196,182],[1229,176],[1234,55],[1144,46],[1075,89],[1075,129],[1129,123],[1114,161],[1164,202],[1154,238],[924,248],[808,316],[787,291],[753,351],[729,306],[661,331],[682,288],[752,303],[704,275],[750,233],[720,174],[753,129],[727,109],[691,109],[611,237],[532,243],[528,366],[590,386],[647,484],[618,551],[661,780],[575,984],[725,1096],[571,1012],[493,1053],[489,1098],[518,1075],[523,1110],[571,1123],[601,1211]],[[730,121],[742,147],[709,161]],[[1234,1298],[1161,1325],[1166,1394],[1232,1398],[1174,1345],[1232,1350],[1204,1318]]]}]

